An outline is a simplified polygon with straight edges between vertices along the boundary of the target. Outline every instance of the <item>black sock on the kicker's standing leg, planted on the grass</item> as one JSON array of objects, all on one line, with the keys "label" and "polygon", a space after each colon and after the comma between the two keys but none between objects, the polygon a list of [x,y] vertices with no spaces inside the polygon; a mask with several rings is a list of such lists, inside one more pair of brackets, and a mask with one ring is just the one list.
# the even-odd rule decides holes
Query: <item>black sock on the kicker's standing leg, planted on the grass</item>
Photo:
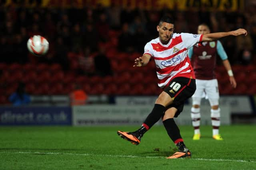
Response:
[{"label": "black sock on the kicker's standing leg, planted on the grass", "polygon": [[164,127],[169,135],[169,137],[172,139],[172,141],[177,144],[179,142],[183,142],[183,139],[180,135],[180,129],[176,125],[173,118],[166,119],[163,121]]}]

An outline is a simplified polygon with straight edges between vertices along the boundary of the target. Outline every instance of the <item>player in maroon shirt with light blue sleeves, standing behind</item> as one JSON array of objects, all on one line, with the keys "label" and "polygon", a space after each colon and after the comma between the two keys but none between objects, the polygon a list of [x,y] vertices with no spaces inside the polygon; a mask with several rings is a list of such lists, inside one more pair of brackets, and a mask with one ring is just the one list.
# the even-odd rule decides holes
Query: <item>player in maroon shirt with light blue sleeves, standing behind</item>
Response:
[{"label": "player in maroon shirt with light blue sleeves, standing behind", "polygon": [[[210,29],[206,24],[198,25],[198,34],[208,34]],[[218,40],[202,42],[201,46],[194,45],[188,50],[188,57],[192,61],[194,73],[196,76],[196,91],[192,96],[191,118],[194,127],[193,140],[200,140],[200,103],[201,98],[208,98],[211,106],[212,119],[212,137],[215,140],[223,140],[219,133],[220,127],[220,108],[219,108],[219,91],[218,81],[214,74],[217,54],[222,59],[225,66],[230,84],[236,88],[236,80],[228,61],[228,56],[224,51],[222,44]]]}]

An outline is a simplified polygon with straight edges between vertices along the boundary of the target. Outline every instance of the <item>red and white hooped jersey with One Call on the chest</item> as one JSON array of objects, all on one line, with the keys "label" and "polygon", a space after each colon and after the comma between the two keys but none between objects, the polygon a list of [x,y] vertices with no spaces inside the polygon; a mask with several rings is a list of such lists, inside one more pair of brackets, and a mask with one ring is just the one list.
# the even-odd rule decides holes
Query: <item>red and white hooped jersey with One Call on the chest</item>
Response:
[{"label": "red and white hooped jersey with One Call on the chest", "polygon": [[195,78],[188,58],[188,49],[202,40],[202,35],[173,33],[169,43],[164,45],[159,37],[144,47],[144,54],[150,54],[156,63],[158,86],[164,88],[175,77]]}]

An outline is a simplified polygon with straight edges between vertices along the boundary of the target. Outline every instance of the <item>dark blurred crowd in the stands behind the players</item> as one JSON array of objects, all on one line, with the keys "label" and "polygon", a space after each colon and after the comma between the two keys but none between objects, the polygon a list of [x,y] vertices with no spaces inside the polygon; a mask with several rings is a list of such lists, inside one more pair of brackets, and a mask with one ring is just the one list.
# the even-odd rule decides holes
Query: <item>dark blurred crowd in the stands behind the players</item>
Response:
[{"label": "dark blurred crowd in the stands behind the players", "polygon": [[[204,7],[199,11],[157,11],[114,4],[79,9],[0,7],[0,64],[57,63],[65,74],[115,76],[122,61],[132,66],[134,57],[144,52],[146,42],[158,37],[156,25],[164,14],[175,19],[177,33],[197,33],[199,23],[210,25],[212,32],[247,29],[246,37],[221,41],[232,65],[256,64],[255,11],[256,6],[241,12],[210,12]],[[48,39],[50,49],[45,56],[28,53],[26,42],[32,35]],[[155,76],[154,70],[150,74]]]}]

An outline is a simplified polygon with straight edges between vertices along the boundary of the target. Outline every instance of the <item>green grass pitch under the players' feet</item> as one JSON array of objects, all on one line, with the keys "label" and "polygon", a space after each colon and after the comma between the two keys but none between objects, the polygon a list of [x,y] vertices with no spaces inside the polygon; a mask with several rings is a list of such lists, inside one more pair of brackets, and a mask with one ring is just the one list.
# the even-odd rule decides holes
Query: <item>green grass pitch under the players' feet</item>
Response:
[{"label": "green grass pitch under the players' feet", "polygon": [[154,126],[140,145],[121,139],[122,127],[0,127],[0,169],[256,169],[256,125],[221,126],[224,141],[212,139],[202,126],[200,141],[193,141],[192,126],[180,126],[192,158],[170,160],[176,147],[163,126]]}]

